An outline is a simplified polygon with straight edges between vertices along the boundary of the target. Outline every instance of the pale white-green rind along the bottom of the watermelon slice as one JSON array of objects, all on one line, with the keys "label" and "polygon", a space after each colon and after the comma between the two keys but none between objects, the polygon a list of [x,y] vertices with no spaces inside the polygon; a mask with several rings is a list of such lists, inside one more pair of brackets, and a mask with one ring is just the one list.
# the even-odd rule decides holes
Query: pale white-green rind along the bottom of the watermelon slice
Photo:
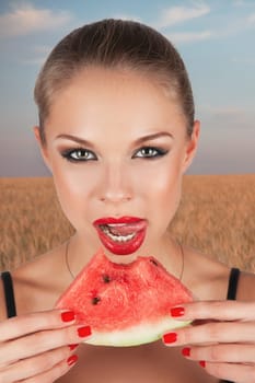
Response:
[{"label": "pale white-green rind along the bottom of the watermelon slice", "polygon": [[128,327],[127,329],[116,329],[107,333],[93,332],[90,338],[84,343],[95,346],[139,346],[155,341],[162,335],[174,328],[187,326],[190,321],[175,321],[170,316],[162,318],[157,323],[141,323],[139,325]]}]

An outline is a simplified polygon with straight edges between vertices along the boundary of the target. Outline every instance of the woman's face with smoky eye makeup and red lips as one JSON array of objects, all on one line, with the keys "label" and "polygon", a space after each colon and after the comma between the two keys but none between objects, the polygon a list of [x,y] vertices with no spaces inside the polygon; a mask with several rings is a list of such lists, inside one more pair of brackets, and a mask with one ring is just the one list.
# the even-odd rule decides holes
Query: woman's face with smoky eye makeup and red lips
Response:
[{"label": "woman's face with smoky eye makeup and red lips", "polygon": [[[187,139],[179,106],[155,81],[91,68],[56,96],[45,129],[44,159],[62,210],[84,245],[96,251],[103,241],[106,253],[118,252],[119,242],[112,248],[93,223],[136,217],[142,220],[138,225],[144,235],[141,243],[127,247],[125,235],[131,229],[121,229],[126,253],[146,255],[159,248],[179,202],[198,123]],[[38,128],[35,134],[38,138]]]}]

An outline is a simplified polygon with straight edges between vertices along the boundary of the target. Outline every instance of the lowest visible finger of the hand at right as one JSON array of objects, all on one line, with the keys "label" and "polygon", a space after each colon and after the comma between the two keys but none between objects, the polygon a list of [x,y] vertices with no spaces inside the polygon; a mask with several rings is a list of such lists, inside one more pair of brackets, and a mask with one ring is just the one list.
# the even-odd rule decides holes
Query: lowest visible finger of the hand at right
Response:
[{"label": "lowest visible finger of the hand at right", "polygon": [[234,363],[202,363],[210,375],[236,383],[255,383],[254,365]]}]

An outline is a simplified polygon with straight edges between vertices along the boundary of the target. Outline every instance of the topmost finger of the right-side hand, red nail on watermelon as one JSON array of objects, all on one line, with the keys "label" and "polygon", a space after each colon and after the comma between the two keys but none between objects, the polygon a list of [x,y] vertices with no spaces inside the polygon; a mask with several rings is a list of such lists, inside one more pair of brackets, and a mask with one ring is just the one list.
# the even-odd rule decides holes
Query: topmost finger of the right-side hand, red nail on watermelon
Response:
[{"label": "topmost finger of the right-side hand, red nail on watermelon", "polygon": [[255,302],[197,301],[171,309],[176,320],[255,321]]}]

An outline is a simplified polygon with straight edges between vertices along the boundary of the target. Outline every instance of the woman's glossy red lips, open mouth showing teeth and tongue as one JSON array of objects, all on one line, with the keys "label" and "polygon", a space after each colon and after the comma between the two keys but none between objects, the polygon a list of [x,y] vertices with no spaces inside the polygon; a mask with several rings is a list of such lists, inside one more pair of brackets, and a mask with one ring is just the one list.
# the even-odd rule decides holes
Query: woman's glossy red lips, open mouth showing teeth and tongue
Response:
[{"label": "woman's glossy red lips, open mouth showing teeth and tongue", "polygon": [[137,217],[106,217],[93,225],[103,245],[116,255],[135,253],[146,237],[147,221]]}]

